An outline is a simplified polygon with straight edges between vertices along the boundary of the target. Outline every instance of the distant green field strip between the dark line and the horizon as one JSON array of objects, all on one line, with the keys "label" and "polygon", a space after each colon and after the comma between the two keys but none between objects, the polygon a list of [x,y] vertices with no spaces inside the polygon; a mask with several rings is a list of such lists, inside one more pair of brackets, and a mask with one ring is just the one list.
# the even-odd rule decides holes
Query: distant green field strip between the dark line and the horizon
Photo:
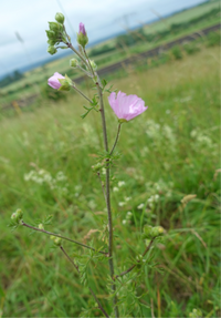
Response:
[{"label": "distant green field strip between the dark line and the horizon", "polygon": [[[192,8],[190,10],[186,10],[183,12],[177,13],[172,17],[169,17],[167,19],[161,19],[158,22],[148,24],[144,27],[144,35],[148,33],[157,33],[159,32],[159,37],[157,39],[154,39],[151,41],[145,39],[143,35],[138,34],[140,38],[140,41],[136,44],[133,44],[131,47],[124,44],[124,41],[120,42],[119,45],[117,43],[117,39],[108,40],[104,43],[101,43],[95,47],[95,50],[101,50],[101,48],[104,48],[105,45],[109,48],[114,48],[114,51],[106,52],[98,54],[94,57],[93,59],[98,64],[98,68],[103,68],[106,65],[110,65],[115,62],[123,61],[125,58],[131,57],[134,54],[137,54],[139,52],[144,52],[147,50],[150,50],[159,44],[164,44],[168,41],[175,40],[177,38],[180,38],[182,35],[189,34],[191,32],[194,32],[197,30],[201,30],[203,28],[213,25],[215,23],[220,22],[220,13],[217,12],[212,14],[211,17],[204,18],[199,21],[194,21],[194,23],[190,23],[187,25],[179,25],[179,23],[185,23],[187,21],[190,21],[192,19],[197,19],[198,17],[201,17],[208,12],[211,12],[211,10],[220,8],[220,1],[213,1],[209,3],[203,3],[201,6],[198,6],[196,8]],[[156,13],[158,14],[158,13]],[[165,30],[170,30],[172,25],[177,25],[173,29],[171,29],[171,32],[164,33]],[[162,33],[160,33],[162,32]],[[130,31],[128,33],[129,38],[136,38],[137,31]],[[123,37],[124,38],[124,37]],[[124,39],[123,39],[124,40]],[[129,40],[130,41],[130,40]],[[91,49],[91,53],[93,53],[93,49]],[[92,54],[93,55],[93,54]],[[71,55],[70,55],[71,57]],[[19,100],[29,100],[30,96],[33,95],[41,95],[44,94],[45,89],[42,88],[46,85],[48,78],[51,76],[55,71],[60,73],[69,73],[69,75],[72,79],[75,79],[80,75],[80,72],[75,70],[70,70],[69,66],[69,60],[70,57],[53,61],[51,63],[45,64],[44,66],[38,68],[33,71],[27,72],[24,74],[24,78],[20,81],[17,81],[6,88],[0,89],[0,100],[1,105],[8,105],[9,103],[13,101]],[[28,101],[28,104],[31,104],[32,101]]]}]

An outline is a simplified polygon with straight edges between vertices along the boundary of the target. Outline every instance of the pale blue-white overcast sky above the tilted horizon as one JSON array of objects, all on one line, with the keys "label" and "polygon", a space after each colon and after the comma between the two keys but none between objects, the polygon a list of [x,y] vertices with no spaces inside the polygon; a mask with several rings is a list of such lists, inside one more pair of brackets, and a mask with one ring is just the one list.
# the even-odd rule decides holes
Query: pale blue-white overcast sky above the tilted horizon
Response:
[{"label": "pale blue-white overcast sky above the tilted horizon", "polygon": [[0,0],[0,75],[50,57],[45,30],[56,12],[67,17],[65,24],[72,38],[78,23],[84,22],[93,42],[123,31],[123,16],[128,14],[127,23],[133,27],[155,19],[151,9],[164,16],[200,2],[202,0]]}]

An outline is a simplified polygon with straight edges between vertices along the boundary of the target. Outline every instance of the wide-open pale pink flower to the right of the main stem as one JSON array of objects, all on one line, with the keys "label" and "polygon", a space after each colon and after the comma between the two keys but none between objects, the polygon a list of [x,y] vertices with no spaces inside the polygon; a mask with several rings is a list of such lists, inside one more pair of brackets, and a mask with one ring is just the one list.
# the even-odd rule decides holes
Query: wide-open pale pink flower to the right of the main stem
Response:
[{"label": "wide-open pale pink flower to the right of the main stem", "polygon": [[137,95],[127,96],[120,91],[117,95],[115,92],[112,92],[108,96],[108,102],[119,120],[130,121],[147,110],[145,102]]}]

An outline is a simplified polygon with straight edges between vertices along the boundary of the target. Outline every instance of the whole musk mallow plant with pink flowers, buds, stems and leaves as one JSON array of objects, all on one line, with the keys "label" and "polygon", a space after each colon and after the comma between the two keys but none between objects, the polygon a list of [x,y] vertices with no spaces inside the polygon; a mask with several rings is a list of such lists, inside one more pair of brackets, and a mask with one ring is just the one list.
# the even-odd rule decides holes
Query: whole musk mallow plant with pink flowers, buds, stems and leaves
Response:
[{"label": "whole musk mallow plant with pink flowers, buds, stems and leaves", "polygon": [[[70,91],[73,89],[85,99],[87,105],[83,106],[85,112],[82,115],[82,119],[85,119],[91,111],[95,111],[97,116],[101,116],[104,148],[97,155],[97,162],[92,168],[101,182],[101,193],[103,192],[104,202],[106,204],[107,239],[101,239],[99,248],[95,248],[91,245],[86,245],[83,242],[75,240],[74,238],[46,230],[45,227],[50,225],[51,216],[46,216],[43,220],[36,222],[34,226],[27,224],[21,209],[18,209],[12,214],[10,226],[13,228],[24,226],[31,230],[49,235],[54,245],[61,249],[64,257],[66,257],[66,259],[73,265],[74,270],[76,270],[76,273],[80,275],[82,284],[88,287],[88,290],[96,302],[96,308],[98,308],[105,317],[135,317],[130,316],[133,312],[131,310],[134,310],[133,314],[135,314],[136,317],[143,317],[140,308],[145,305],[140,302],[140,296],[136,294],[136,286],[138,281],[144,279],[144,271],[141,271],[141,269],[144,269],[145,266],[148,266],[148,257],[150,249],[152,248],[152,244],[156,239],[160,239],[160,236],[164,234],[164,228],[160,226],[143,226],[140,237],[144,239],[146,246],[143,254],[137,255],[134,258],[134,261],[131,260],[131,265],[126,269],[124,266],[120,267],[117,265],[112,213],[110,170],[113,164],[115,164],[116,160],[119,157],[119,155],[115,152],[115,148],[119,140],[122,125],[140,115],[147,110],[147,106],[145,106],[145,102],[137,95],[126,95],[120,91],[116,93],[115,91],[112,91],[112,86],[107,88],[107,82],[105,80],[101,80],[98,76],[95,62],[91,61],[87,55],[85,48],[88,43],[88,37],[85,25],[82,22],[80,23],[77,33],[78,48],[76,49],[72,44],[71,38],[66,32],[64,21],[64,16],[62,13],[56,13],[55,21],[49,22],[49,30],[46,30],[46,35],[49,39],[48,52],[50,54],[55,54],[57,49],[71,49],[76,57],[71,59],[70,66],[76,68],[81,72],[84,72],[84,74],[92,80],[93,86],[96,89],[96,93],[94,94],[93,99],[88,98],[67,75],[63,75],[57,72],[54,72],[54,74],[49,79],[48,83],[54,90]],[[110,107],[118,119],[116,137],[112,147],[109,146],[107,137],[106,123],[108,123],[108,121],[106,121],[105,116],[105,94],[107,95]],[[102,179],[101,176],[104,176],[104,179]],[[107,289],[105,289],[105,295],[108,294],[108,298],[110,298],[113,301],[113,306],[110,308],[109,306],[106,308],[105,301],[99,300],[101,298],[96,296],[95,291],[90,286],[87,279],[87,265],[82,263],[81,254],[77,255],[77,253],[75,253],[74,257],[67,254],[66,249],[64,248],[65,240],[77,245],[80,248],[84,247],[87,249],[90,252],[88,257],[91,260],[93,260],[93,264],[96,265],[96,261],[103,261],[105,264],[108,263],[109,275],[106,277],[105,284],[102,281],[102,286],[106,286]],[[131,259],[129,255],[128,259]],[[143,276],[140,273],[143,273]],[[127,307],[124,304],[128,300],[128,297],[130,297],[133,301]],[[84,309],[81,317],[91,317],[92,310],[93,308]]]}]

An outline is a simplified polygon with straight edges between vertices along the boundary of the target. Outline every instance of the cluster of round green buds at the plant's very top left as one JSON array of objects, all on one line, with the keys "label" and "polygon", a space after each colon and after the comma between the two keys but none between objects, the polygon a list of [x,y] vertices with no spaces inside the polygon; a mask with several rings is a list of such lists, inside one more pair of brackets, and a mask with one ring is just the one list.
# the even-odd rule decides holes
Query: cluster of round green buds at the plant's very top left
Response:
[{"label": "cluster of round green buds at the plant's very top left", "polygon": [[66,37],[69,38],[64,29],[64,16],[62,13],[56,13],[55,20],[56,22],[49,22],[50,30],[46,30],[49,39],[48,52],[52,55],[57,52],[55,44],[60,44],[60,42],[66,43]]}]

